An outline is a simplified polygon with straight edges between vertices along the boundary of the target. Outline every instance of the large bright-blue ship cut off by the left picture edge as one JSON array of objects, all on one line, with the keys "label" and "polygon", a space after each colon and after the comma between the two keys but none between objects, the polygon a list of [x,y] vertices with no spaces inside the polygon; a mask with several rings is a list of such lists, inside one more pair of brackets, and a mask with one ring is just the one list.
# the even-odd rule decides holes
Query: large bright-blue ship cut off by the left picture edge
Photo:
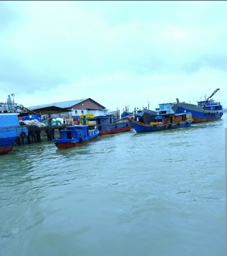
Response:
[{"label": "large bright-blue ship cut off by the left picture edge", "polygon": [[20,125],[17,104],[11,101],[0,103],[0,154],[12,151],[16,139],[28,136],[28,127]]}]

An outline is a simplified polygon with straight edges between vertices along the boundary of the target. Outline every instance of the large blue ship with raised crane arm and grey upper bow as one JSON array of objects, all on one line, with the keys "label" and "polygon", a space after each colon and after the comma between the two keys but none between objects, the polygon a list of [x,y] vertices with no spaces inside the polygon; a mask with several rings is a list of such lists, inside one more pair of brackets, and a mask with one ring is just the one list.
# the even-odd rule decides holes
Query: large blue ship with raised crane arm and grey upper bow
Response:
[{"label": "large blue ship with raised crane arm and grey upper bow", "polygon": [[216,89],[207,99],[205,98],[203,101],[198,101],[197,105],[179,102],[179,99],[176,99],[176,104],[172,106],[172,109],[176,114],[191,112],[194,120],[193,123],[202,123],[221,119],[223,115],[222,105],[220,102],[215,102],[211,99],[219,90],[219,88]]}]

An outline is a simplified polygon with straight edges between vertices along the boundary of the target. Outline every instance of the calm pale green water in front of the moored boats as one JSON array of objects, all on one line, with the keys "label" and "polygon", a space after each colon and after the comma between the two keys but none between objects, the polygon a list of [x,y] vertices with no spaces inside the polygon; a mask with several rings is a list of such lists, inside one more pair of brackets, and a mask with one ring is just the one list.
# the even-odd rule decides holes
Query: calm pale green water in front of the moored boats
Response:
[{"label": "calm pale green water in front of the moored boats", "polygon": [[0,255],[225,255],[225,127],[52,142],[0,157]]}]

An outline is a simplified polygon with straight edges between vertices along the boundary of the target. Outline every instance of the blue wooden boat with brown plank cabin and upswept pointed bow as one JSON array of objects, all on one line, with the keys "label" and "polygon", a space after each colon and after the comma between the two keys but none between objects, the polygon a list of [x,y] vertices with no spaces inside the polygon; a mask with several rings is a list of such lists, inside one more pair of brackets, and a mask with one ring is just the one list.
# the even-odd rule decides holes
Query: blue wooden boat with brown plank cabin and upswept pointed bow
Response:
[{"label": "blue wooden boat with brown plank cabin and upswept pointed bow", "polygon": [[[172,130],[191,126],[193,121],[191,113],[175,114],[171,110],[173,103],[159,104],[159,108],[155,113],[145,113],[139,118],[139,121],[128,121],[132,124],[137,133],[154,132],[161,130]],[[169,108],[167,108],[169,106]]]}]

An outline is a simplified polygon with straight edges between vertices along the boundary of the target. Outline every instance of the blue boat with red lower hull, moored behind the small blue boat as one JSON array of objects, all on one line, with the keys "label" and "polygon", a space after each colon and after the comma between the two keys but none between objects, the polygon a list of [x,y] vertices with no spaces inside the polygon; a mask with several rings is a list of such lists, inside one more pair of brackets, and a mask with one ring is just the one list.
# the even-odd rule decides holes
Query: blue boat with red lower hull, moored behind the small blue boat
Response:
[{"label": "blue boat with red lower hull, moored behind the small blue boat", "polygon": [[115,120],[111,114],[94,116],[86,121],[89,125],[89,129],[93,129],[94,126],[97,126],[99,135],[125,132],[132,128],[132,125],[127,119],[123,118],[120,120]]}]

